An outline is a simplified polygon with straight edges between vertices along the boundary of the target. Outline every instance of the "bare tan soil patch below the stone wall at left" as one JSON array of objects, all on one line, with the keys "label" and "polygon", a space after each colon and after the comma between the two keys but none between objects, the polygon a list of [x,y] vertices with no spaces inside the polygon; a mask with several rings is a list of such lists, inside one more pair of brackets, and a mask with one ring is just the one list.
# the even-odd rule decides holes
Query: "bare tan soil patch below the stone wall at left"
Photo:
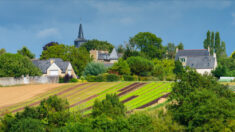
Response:
[{"label": "bare tan soil patch below the stone wall at left", "polygon": [[38,84],[14,87],[0,87],[0,108],[20,103],[38,94],[66,84]]}]

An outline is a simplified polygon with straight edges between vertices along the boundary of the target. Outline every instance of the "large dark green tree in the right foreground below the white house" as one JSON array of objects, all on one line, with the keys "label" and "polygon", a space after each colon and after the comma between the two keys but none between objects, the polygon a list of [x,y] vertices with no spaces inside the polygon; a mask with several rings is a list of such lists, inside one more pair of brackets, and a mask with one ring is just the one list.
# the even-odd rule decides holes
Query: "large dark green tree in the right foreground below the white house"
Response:
[{"label": "large dark green tree in the right foreground below the white house", "polygon": [[192,69],[175,82],[170,101],[173,102],[168,106],[169,112],[173,119],[187,126],[187,131],[209,131],[208,128],[215,126],[212,122],[215,120],[228,127],[227,121],[235,119],[235,96],[228,86]]}]

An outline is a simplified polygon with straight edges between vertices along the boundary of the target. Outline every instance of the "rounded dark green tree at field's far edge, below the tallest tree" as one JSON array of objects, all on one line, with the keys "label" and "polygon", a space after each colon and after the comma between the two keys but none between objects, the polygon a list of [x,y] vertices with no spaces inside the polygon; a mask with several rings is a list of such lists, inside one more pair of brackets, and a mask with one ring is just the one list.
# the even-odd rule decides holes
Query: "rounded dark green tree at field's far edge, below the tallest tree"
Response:
[{"label": "rounded dark green tree at field's far edge, below the tallest tree", "polygon": [[153,62],[143,57],[129,57],[127,63],[131,69],[131,72],[136,75],[150,75],[153,70]]}]

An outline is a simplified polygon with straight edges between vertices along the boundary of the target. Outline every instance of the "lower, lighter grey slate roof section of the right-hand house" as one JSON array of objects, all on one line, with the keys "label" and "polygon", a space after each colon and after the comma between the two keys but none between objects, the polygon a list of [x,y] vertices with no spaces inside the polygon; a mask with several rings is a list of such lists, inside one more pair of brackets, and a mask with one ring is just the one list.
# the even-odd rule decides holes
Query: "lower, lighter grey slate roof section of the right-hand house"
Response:
[{"label": "lower, lighter grey slate roof section of the right-hand house", "polygon": [[195,69],[213,69],[215,61],[213,56],[189,56],[186,60],[186,66]]}]

